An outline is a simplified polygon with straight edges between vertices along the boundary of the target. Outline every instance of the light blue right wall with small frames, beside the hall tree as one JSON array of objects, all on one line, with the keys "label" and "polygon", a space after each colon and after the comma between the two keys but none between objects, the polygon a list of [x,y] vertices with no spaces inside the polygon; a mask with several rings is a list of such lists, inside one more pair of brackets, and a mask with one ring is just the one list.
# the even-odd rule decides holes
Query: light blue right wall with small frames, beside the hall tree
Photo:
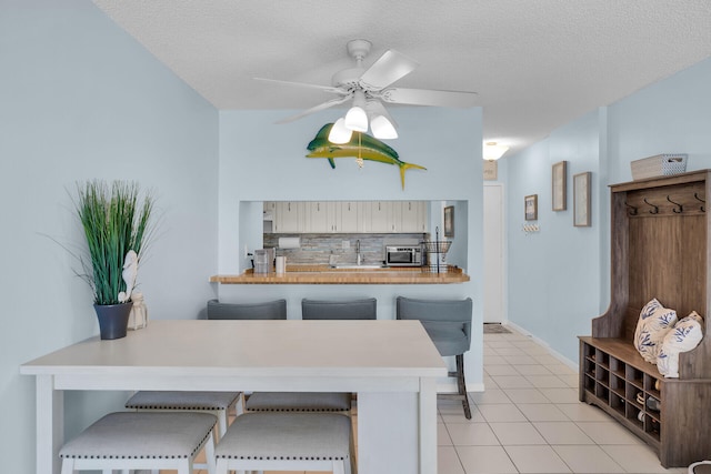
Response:
[{"label": "light blue right wall with small frames, beside the hall tree", "polygon": [[[608,185],[632,179],[632,160],[689,153],[687,170],[711,168],[711,60],[702,61],[554,130],[505,158],[508,320],[569,361],[577,335],[610,301]],[[551,167],[568,161],[568,209],[551,210]],[[572,177],[592,172],[592,226],[572,224]],[[540,232],[525,235],[523,196],[539,195]]]}]

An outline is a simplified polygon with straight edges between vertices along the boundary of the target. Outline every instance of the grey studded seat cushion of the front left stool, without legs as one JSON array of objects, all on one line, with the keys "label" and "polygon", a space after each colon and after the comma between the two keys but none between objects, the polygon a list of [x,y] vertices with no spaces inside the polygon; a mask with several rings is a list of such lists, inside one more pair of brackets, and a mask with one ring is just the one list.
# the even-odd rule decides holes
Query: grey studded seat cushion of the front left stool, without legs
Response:
[{"label": "grey studded seat cushion of the front left stool, without legs", "polygon": [[212,435],[208,413],[119,412],[100,418],[59,452],[62,458],[189,458]]}]

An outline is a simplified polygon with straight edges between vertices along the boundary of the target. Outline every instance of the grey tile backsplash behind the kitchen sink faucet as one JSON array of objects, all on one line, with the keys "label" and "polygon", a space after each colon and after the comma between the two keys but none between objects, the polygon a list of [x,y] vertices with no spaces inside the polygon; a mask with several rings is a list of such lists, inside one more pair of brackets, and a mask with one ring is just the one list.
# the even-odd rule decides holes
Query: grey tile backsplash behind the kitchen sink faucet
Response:
[{"label": "grey tile backsplash behind the kitchen sink faucet", "polygon": [[[279,238],[298,236],[299,249],[279,249]],[[391,244],[417,244],[429,239],[429,233],[413,234],[276,234],[264,233],[264,249],[277,248],[277,255],[284,255],[287,264],[327,265],[331,255],[337,264],[356,263],[356,244],[360,240],[361,263],[380,264],[384,248]],[[344,242],[347,242],[344,244]]]}]

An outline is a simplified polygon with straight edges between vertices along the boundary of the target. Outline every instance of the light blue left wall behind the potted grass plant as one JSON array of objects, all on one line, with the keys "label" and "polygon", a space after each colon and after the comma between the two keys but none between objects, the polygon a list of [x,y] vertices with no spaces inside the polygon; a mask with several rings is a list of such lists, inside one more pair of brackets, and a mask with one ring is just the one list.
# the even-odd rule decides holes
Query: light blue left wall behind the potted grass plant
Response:
[{"label": "light blue left wall behind the potted grass plant", "polygon": [[[217,266],[217,110],[89,0],[0,1],[2,470],[34,472],[34,381],[20,364],[98,334],[77,180],[154,189],[160,226],[139,272],[151,317],[196,317]],[[70,392],[71,435],[124,394]]]}]

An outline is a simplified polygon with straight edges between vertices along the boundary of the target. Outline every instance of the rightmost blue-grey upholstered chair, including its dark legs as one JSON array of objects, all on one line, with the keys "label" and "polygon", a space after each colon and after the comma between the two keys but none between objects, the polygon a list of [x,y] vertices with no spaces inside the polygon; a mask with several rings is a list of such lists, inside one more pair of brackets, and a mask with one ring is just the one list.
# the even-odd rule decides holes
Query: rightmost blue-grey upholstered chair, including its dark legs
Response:
[{"label": "rightmost blue-grey upholstered chair, including its dark legs", "polygon": [[417,300],[398,296],[397,317],[419,320],[434,346],[442,356],[454,356],[457,371],[449,376],[457,377],[458,393],[461,395],[464,416],[471,420],[467,382],[464,381],[464,352],[471,345],[471,297],[464,300]]}]

